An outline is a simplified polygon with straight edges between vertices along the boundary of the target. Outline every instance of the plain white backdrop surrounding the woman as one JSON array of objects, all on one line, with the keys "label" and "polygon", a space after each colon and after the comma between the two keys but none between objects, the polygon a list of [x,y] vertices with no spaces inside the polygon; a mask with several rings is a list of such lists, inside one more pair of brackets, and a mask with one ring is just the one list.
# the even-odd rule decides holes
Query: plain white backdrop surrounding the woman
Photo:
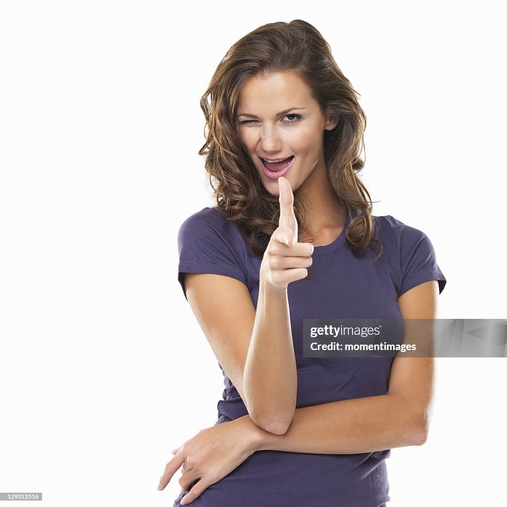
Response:
[{"label": "plain white backdrop surrounding the woman", "polygon": [[[330,7],[332,6],[332,11]],[[212,205],[199,99],[256,27],[305,19],[368,117],[374,214],[424,231],[442,318],[505,318],[499,2],[0,4],[0,491],[172,505],[170,450],[216,420],[222,373],[177,280]],[[390,507],[504,501],[504,359],[440,359]]]}]

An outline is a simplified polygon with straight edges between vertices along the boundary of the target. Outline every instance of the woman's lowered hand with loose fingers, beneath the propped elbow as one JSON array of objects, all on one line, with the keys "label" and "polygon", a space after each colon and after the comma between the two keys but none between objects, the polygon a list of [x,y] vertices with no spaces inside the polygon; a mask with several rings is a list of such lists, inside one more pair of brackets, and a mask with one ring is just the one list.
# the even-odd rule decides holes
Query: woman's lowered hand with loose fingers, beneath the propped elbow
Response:
[{"label": "woman's lowered hand with loose fingers, beneath the propped elbow", "polygon": [[200,480],[180,503],[186,505],[194,501],[208,486],[230,474],[258,450],[262,432],[249,415],[201,429],[195,437],[172,451],[174,457],[165,465],[158,489],[164,489],[183,465],[183,475],[178,481],[182,491]]}]

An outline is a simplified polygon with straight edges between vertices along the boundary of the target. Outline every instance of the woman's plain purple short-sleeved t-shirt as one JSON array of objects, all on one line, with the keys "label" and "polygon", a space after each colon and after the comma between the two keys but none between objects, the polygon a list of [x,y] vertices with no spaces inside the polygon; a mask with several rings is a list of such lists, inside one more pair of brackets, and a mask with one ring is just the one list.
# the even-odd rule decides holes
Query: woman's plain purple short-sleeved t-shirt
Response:
[{"label": "woman's plain purple short-sleeved t-shirt", "polygon": [[[316,246],[308,269],[313,279],[287,287],[296,354],[296,408],[387,394],[392,357],[303,357],[303,319],[401,319],[396,302],[412,287],[446,278],[437,265],[429,238],[390,215],[374,216],[379,245],[354,255],[345,227],[328,245]],[[191,215],[178,233],[178,280],[182,273],[217,273],[243,282],[257,308],[261,260],[237,227],[218,209],[207,207]],[[186,297],[186,294],[185,294]],[[203,342],[204,343],[204,342]],[[219,364],[220,366],[220,364]],[[216,424],[248,412],[236,388],[224,375],[223,399]],[[257,451],[219,482],[209,486],[195,507],[379,507],[390,500],[385,459],[390,450],[360,454],[309,454]],[[192,484],[192,486],[195,483]],[[189,488],[190,489],[190,488]],[[173,507],[179,507],[188,490]]]}]

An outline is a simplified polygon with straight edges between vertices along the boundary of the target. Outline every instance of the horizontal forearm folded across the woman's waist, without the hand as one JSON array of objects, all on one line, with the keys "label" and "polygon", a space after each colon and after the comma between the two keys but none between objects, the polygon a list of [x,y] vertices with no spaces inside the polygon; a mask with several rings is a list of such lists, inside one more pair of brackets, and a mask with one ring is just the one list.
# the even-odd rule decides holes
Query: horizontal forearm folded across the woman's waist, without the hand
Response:
[{"label": "horizontal forearm folded across the woman's waist, without the hand", "polygon": [[256,450],[356,454],[420,445],[425,440],[423,417],[399,394],[296,409],[282,435],[256,428],[251,420],[245,424]]}]

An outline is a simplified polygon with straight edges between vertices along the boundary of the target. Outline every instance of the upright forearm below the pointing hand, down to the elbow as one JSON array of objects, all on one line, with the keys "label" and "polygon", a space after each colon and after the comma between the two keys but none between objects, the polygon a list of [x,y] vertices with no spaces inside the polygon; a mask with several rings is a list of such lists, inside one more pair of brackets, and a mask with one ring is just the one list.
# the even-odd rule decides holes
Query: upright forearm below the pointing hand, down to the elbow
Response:
[{"label": "upright forearm below the pointing hand, down to the elbow", "polygon": [[259,426],[283,433],[296,408],[297,368],[287,291],[261,279],[243,371],[244,402]]}]

